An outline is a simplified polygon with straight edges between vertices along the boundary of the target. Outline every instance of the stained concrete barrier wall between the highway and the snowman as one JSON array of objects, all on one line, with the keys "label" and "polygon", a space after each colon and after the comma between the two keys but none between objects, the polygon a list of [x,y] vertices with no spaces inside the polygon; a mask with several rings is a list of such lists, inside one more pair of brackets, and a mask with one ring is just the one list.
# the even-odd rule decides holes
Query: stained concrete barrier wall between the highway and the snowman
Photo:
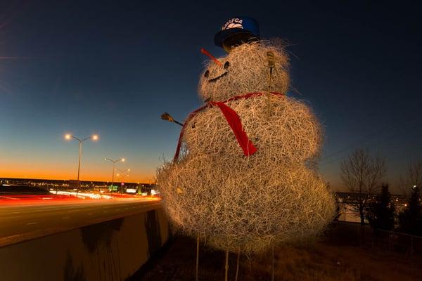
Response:
[{"label": "stained concrete barrier wall between the highway and the snowman", "polygon": [[0,280],[125,280],[167,241],[162,209],[0,248]]}]

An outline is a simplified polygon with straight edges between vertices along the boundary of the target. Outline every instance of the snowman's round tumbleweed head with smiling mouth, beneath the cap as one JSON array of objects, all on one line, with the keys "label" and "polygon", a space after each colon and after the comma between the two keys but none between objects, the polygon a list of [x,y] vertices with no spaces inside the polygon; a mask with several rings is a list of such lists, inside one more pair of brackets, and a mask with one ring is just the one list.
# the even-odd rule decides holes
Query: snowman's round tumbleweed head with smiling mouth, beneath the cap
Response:
[{"label": "snowman's round tumbleweed head with smiling mouth, beneath the cap", "polygon": [[[255,92],[286,93],[290,84],[289,60],[283,44],[277,41],[255,41],[242,44],[219,58],[210,60],[199,80],[198,92],[204,99],[226,100]],[[269,89],[270,67],[271,89]]]}]

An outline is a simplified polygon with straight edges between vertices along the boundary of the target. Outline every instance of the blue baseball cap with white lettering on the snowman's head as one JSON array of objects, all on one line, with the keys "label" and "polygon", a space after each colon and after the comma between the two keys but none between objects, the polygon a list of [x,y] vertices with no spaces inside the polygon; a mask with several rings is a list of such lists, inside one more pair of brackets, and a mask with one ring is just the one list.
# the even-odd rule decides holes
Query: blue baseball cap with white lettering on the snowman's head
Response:
[{"label": "blue baseball cap with white lettering on the snowman's head", "polygon": [[[234,37],[236,38],[234,39]],[[245,41],[259,40],[260,26],[257,20],[249,17],[235,17],[227,20],[222,30],[215,34],[214,43],[219,47],[223,47],[224,41],[229,39],[234,39],[232,44],[237,45],[245,43]]]}]

